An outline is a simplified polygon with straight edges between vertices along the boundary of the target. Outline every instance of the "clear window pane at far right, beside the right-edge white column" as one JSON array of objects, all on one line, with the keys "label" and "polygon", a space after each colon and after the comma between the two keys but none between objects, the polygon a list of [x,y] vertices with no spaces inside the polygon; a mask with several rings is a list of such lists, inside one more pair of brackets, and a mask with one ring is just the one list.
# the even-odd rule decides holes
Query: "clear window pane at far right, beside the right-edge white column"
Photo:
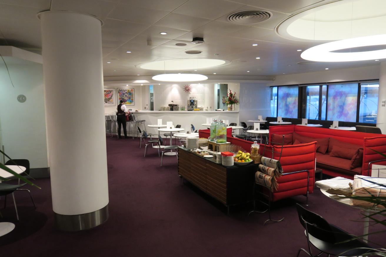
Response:
[{"label": "clear window pane at far right, beside the right-edge white column", "polygon": [[379,82],[361,83],[359,122],[377,123]]}]

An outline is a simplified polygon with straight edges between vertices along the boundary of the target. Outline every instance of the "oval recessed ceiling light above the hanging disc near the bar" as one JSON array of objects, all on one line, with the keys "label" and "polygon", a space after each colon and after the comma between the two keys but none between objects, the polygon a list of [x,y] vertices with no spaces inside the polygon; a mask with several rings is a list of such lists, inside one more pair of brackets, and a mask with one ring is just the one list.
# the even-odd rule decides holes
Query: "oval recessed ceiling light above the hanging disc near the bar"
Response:
[{"label": "oval recessed ceiling light above the hanging disc near the bar", "polygon": [[222,59],[207,59],[207,58],[191,58],[191,59],[174,59],[174,60],[159,60],[154,62],[146,62],[135,67],[146,70],[157,71],[179,71],[179,70],[196,70],[220,65],[229,64],[229,60]]}]

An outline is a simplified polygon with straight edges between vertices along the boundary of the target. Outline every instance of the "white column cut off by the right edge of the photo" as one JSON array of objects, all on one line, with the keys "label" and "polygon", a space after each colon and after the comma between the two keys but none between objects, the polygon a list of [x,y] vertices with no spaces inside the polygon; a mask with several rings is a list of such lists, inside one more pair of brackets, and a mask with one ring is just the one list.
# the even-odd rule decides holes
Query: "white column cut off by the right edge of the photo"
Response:
[{"label": "white column cut off by the right edge of the photo", "polygon": [[[386,134],[386,61],[381,62],[379,66],[377,127]],[[385,102],[382,103],[383,101]]]}]

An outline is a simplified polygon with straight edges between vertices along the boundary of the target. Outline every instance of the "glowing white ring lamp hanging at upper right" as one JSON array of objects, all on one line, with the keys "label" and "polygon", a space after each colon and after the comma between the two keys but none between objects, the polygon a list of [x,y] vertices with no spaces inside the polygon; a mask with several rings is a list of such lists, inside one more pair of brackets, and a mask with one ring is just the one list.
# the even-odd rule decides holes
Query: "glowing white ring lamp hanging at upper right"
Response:
[{"label": "glowing white ring lamp hanging at upper right", "polygon": [[341,49],[367,45],[385,45],[386,35],[357,37],[317,45],[305,50],[300,56],[305,60],[318,62],[352,62],[386,58],[386,49],[364,52],[334,52]]}]

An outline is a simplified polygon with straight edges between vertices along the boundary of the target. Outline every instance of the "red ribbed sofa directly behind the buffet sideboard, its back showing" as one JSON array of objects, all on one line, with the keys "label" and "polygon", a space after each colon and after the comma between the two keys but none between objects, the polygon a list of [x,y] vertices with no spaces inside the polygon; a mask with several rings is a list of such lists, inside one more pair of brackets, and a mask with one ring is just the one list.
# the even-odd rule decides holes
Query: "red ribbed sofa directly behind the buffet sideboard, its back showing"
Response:
[{"label": "red ribbed sofa directly behind the buffet sideboard, its back showing", "polygon": [[[199,130],[198,134],[200,138],[208,138],[210,132],[209,129],[205,129]],[[245,141],[231,136],[227,137],[227,141],[241,146],[247,152],[251,149],[251,141]],[[272,153],[272,151],[270,151],[272,148],[274,148],[274,152],[279,152],[281,150],[281,146],[266,146],[264,156],[278,160],[279,154]],[[280,163],[283,167],[284,175],[278,178],[279,188],[273,192],[273,201],[296,195],[313,193],[315,184],[315,149],[315,142],[302,144],[301,146],[288,145],[283,147]],[[263,154],[263,151],[264,144],[260,144],[259,153]],[[308,170],[309,178],[307,172],[285,175],[286,173],[301,170]]]}]

